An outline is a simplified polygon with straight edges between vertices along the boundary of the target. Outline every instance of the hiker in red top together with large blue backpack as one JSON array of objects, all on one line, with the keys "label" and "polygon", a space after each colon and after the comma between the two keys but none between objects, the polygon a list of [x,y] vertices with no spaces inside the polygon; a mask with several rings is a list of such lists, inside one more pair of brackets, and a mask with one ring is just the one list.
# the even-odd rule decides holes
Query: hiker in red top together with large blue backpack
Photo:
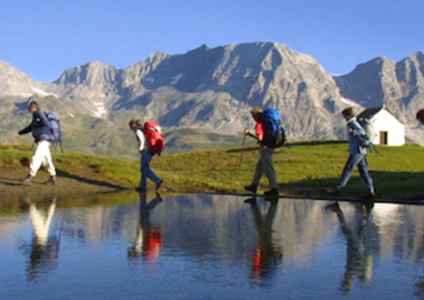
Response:
[{"label": "hiker in red top together with large blue backpack", "polygon": [[284,129],[280,124],[279,112],[276,109],[263,111],[259,107],[254,107],[251,113],[252,118],[256,121],[255,132],[252,134],[245,129],[244,134],[258,141],[259,161],[256,163],[252,184],[245,186],[245,189],[256,194],[259,180],[265,174],[268,177],[271,189],[264,194],[266,196],[278,196],[278,184],[275,169],[272,165],[272,155],[274,154],[274,148],[284,143]]}]

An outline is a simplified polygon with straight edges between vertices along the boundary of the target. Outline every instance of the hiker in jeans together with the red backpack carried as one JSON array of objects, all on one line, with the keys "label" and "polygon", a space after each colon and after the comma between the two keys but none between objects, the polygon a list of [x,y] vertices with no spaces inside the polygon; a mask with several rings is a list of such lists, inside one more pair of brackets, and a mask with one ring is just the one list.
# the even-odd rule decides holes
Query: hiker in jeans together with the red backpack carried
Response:
[{"label": "hiker in jeans together with the red backpack carried", "polygon": [[138,150],[141,153],[141,179],[137,191],[147,190],[147,178],[156,184],[156,191],[161,187],[163,180],[150,169],[150,161],[155,154],[160,155],[165,148],[161,127],[152,121],[142,125],[141,120],[131,120],[129,128],[136,134]]}]

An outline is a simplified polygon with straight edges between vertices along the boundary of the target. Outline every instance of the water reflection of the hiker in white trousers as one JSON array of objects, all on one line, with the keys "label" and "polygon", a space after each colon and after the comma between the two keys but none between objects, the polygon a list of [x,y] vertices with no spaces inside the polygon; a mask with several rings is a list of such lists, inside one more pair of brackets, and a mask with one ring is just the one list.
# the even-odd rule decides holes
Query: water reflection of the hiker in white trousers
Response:
[{"label": "water reflection of the hiker in white trousers", "polygon": [[41,212],[28,198],[29,218],[34,229],[34,238],[31,244],[28,277],[33,279],[38,271],[54,265],[58,259],[60,237],[49,235],[51,220],[56,210],[56,197],[51,200],[47,215]]}]

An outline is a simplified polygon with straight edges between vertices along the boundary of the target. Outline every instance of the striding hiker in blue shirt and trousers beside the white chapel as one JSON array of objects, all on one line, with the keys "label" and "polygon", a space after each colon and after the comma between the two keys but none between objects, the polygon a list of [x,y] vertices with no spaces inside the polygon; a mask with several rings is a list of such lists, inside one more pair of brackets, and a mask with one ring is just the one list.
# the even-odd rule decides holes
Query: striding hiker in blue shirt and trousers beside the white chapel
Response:
[{"label": "striding hiker in blue shirt and trousers beside the white chapel", "polygon": [[330,194],[337,196],[342,187],[344,187],[352,175],[354,168],[358,166],[359,174],[366,183],[368,187],[368,196],[375,197],[375,189],[373,184],[373,179],[368,173],[368,163],[366,161],[366,149],[361,146],[359,137],[365,134],[364,129],[359,125],[357,118],[354,116],[354,111],[352,107],[343,109],[341,112],[343,118],[348,122],[348,143],[349,143],[349,158],[346,161],[345,167],[343,168],[343,173],[339,180],[339,184],[332,189],[327,189]]}]

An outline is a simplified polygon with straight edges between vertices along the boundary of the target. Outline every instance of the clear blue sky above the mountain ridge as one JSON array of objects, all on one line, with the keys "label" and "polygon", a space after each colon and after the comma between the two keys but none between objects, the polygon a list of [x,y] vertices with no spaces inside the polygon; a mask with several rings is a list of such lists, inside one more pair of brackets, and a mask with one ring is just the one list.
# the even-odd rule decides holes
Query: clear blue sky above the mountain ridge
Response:
[{"label": "clear blue sky above the mountain ridge", "polygon": [[156,51],[279,42],[331,74],[424,51],[423,0],[14,0],[0,9],[0,60],[50,82],[98,60],[126,68]]}]

